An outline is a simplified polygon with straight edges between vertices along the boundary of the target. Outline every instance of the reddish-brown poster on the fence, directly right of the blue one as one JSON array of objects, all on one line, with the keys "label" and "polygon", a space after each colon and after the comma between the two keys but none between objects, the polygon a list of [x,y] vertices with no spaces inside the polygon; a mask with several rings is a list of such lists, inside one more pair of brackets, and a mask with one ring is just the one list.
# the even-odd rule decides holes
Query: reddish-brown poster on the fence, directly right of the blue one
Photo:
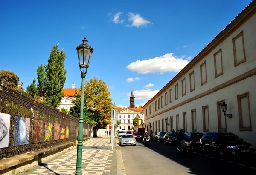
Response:
[{"label": "reddish-brown poster on the fence, directly right of the blue one", "polygon": [[33,143],[44,141],[44,121],[34,120],[33,124]]}]

